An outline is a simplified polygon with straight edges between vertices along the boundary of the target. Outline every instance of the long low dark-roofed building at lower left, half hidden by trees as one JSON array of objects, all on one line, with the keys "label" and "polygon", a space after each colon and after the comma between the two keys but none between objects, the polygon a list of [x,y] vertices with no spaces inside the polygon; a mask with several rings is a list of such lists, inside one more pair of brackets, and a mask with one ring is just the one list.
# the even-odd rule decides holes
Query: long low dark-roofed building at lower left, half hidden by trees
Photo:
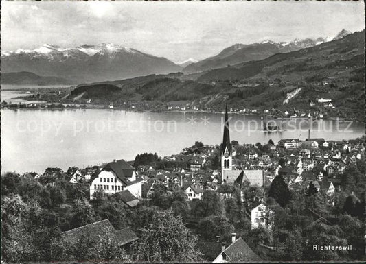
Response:
[{"label": "long low dark-roofed building at lower left, half hidden by trees", "polygon": [[107,235],[120,247],[126,247],[139,239],[133,230],[124,228],[122,230],[115,230],[108,219],[97,221],[86,226],[71,229],[61,233],[61,236],[67,243],[73,245],[78,243],[82,237],[87,237],[90,240],[98,241],[101,236]]}]

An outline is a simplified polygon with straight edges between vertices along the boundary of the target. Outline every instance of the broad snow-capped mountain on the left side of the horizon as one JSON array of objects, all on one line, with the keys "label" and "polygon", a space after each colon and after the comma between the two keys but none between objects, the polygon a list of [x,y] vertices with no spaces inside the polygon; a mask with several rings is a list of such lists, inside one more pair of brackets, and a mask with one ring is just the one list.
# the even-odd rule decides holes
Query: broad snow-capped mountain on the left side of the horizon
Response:
[{"label": "broad snow-capped mountain on the left side of the horizon", "polygon": [[45,44],[36,49],[1,52],[3,73],[29,71],[75,82],[99,82],[152,73],[181,71],[166,58],[113,43],[63,48]]}]

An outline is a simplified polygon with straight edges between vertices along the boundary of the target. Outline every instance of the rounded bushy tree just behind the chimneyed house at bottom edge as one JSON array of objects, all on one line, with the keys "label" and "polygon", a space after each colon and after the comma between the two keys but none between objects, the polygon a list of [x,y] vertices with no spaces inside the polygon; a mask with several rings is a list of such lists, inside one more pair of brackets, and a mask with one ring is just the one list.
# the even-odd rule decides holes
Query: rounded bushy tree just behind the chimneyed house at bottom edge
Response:
[{"label": "rounded bushy tree just behind the chimneyed house at bottom edge", "polygon": [[216,236],[221,238],[230,237],[233,226],[226,217],[211,215],[198,222],[198,234],[207,240],[214,240]]}]

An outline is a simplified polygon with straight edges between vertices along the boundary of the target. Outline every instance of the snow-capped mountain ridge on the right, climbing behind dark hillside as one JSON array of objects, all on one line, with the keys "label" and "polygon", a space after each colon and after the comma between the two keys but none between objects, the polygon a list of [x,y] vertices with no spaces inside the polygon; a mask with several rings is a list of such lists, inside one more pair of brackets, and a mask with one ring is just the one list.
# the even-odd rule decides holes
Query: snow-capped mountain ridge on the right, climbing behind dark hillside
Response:
[{"label": "snow-capped mountain ridge on the right, climbing behind dark hillside", "polygon": [[250,60],[262,60],[272,56],[275,53],[286,53],[290,51],[297,51],[299,49],[306,49],[308,47],[314,47],[322,43],[343,38],[350,33],[351,32],[343,29],[341,32],[339,32],[339,34],[336,35],[336,37],[295,39],[291,42],[279,43],[268,39],[263,40],[260,43],[253,44],[237,43],[231,47],[223,49],[216,56],[189,64],[183,69],[183,72],[197,73],[201,71],[207,71],[209,69],[227,67],[227,65],[238,64]]}]

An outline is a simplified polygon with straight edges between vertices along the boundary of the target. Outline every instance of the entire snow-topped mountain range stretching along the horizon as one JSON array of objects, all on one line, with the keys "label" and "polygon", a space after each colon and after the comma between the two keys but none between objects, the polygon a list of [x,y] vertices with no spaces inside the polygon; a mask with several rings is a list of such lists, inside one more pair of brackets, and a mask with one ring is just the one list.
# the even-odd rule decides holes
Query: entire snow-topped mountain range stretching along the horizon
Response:
[{"label": "entire snow-topped mountain range stretching along the horizon", "polygon": [[26,71],[41,76],[60,77],[78,84],[179,71],[185,74],[201,73],[241,62],[262,60],[275,53],[314,47],[332,39],[343,38],[347,34],[350,32],[342,30],[335,38],[306,38],[290,43],[264,40],[261,43],[236,44],[205,60],[197,62],[189,58],[177,64],[166,58],[112,43],[70,48],[45,44],[33,50],[2,51],[1,72]]}]

